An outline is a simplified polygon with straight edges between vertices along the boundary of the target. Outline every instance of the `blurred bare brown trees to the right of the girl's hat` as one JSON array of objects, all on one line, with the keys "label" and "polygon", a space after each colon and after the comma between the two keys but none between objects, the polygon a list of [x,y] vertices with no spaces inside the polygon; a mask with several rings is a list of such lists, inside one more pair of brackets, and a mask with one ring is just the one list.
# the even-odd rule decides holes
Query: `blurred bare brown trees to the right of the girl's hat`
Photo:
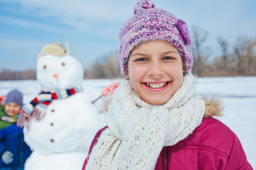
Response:
[{"label": "blurred bare brown trees to the right of the girl's hat", "polygon": [[206,31],[192,29],[193,74],[198,77],[256,76],[256,38],[240,36],[232,50],[227,40],[217,38],[220,55],[211,61],[211,48],[205,45],[206,39]]}]

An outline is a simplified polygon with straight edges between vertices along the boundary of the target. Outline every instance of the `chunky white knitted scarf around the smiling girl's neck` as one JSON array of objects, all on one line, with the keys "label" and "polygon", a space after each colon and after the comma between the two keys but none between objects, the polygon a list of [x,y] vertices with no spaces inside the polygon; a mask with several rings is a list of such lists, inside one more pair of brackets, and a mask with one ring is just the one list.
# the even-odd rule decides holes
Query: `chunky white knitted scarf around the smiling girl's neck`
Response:
[{"label": "chunky white knitted scarf around the smiling girl's neck", "polygon": [[162,106],[142,101],[129,80],[114,91],[108,128],[93,147],[86,169],[154,169],[161,149],[183,140],[201,124],[205,102],[195,95],[192,74]]}]

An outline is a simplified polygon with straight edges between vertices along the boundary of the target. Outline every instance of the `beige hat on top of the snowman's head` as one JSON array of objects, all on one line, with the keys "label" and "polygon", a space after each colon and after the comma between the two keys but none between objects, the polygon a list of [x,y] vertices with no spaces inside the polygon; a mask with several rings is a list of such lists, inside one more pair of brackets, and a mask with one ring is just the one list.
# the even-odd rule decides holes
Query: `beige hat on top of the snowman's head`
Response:
[{"label": "beige hat on top of the snowman's head", "polygon": [[48,44],[43,46],[42,52],[37,56],[37,59],[43,55],[63,56],[68,54],[68,42],[65,42],[65,50],[63,49],[62,44],[60,42],[57,42],[55,44]]}]

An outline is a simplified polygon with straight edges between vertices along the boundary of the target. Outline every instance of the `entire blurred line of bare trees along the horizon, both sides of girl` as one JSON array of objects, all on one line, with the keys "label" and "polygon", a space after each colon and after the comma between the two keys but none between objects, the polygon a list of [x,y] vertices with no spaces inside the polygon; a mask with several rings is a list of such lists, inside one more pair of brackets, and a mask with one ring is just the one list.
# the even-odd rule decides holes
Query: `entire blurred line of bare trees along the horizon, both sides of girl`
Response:
[{"label": "entire blurred line of bare trees along the horizon, both sides of girl", "polygon": [[[193,27],[191,41],[193,48],[193,74],[198,77],[235,77],[256,76],[256,38],[240,36],[235,45],[217,38],[219,56],[211,57],[212,47],[206,45],[207,32]],[[85,69],[85,79],[119,78],[118,51],[110,52],[95,59]],[[210,60],[211,59],[211,60]],[[21,72],[2,69],[0,80],[36,79],[36,70],[26,69]]]}]

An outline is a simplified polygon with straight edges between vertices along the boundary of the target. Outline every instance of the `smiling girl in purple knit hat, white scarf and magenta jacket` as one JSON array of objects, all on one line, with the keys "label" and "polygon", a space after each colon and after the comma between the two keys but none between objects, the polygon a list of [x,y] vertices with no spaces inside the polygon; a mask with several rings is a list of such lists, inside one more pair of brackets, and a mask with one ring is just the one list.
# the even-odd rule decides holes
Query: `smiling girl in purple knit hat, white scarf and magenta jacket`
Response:
[{"label": "smiling girl in purple knit hat, white scarf and magenta jacket", "polygon": [[123,79],[83,169],[252,169],[220,101],[196,96],[186,23],[140,1],[120,31]]}]

